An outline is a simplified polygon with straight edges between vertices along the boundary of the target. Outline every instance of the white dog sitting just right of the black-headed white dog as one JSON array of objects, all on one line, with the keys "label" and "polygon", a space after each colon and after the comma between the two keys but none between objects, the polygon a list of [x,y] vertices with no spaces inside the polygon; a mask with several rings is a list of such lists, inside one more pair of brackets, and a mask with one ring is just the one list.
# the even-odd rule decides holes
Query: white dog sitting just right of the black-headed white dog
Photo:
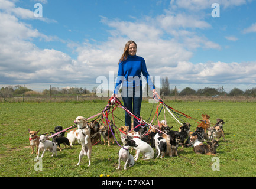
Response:
[{"label": "white dog sitting just right of the black-headed white dog", "polygon": [[135,161],[138,160],[140,152],[144,155],[144,159],[143,160],[147,160],[147,159],[152,159],[154,158],[154,150],[153,148],[147,144],[147,142],[144,142],[140,139],[140,134],[138,132],[134,133],[134,138],[133,140],[136,142],[136,144],[138,145],[137,147],[134,147],[134,149],[136,149],[136,155],[135,155]]}]

